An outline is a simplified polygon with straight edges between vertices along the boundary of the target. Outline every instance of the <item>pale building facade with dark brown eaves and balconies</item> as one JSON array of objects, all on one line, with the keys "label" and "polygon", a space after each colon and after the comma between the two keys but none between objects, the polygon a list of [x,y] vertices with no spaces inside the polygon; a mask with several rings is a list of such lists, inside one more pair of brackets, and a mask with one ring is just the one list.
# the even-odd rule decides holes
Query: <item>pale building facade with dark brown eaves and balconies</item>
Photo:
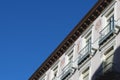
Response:
[{"label": "pale building facade with dark brown eaves and balconies", "polygon": [[99,0],[29,80],[120,80],[120,0]]}]

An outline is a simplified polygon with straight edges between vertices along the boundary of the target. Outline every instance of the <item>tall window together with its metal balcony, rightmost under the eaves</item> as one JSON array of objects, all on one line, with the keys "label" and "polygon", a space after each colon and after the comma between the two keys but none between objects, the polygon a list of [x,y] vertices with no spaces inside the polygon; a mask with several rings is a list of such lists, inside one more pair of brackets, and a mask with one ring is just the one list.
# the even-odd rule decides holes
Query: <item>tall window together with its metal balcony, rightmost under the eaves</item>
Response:
[{"label": "tall window together with its metal balcony, rightmost under the eaves", "polygon": [[111,9],[105,14],[106,23],[100,31],[99,45],[102,45],[114,34],[114,9]]}]

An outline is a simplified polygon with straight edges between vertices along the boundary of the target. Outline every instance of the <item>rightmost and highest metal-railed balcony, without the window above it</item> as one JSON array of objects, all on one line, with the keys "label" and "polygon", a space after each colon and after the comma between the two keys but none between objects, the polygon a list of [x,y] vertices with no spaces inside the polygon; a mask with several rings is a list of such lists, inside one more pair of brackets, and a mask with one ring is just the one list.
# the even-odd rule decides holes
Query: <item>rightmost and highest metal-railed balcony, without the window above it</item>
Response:
[{"label": "rightmost and highest metal-railed balcony, without the window above it", "polygon": [[114,34],[114,21],[109,22],[109,24],[100,31],[99,45],[102,45]]}]

